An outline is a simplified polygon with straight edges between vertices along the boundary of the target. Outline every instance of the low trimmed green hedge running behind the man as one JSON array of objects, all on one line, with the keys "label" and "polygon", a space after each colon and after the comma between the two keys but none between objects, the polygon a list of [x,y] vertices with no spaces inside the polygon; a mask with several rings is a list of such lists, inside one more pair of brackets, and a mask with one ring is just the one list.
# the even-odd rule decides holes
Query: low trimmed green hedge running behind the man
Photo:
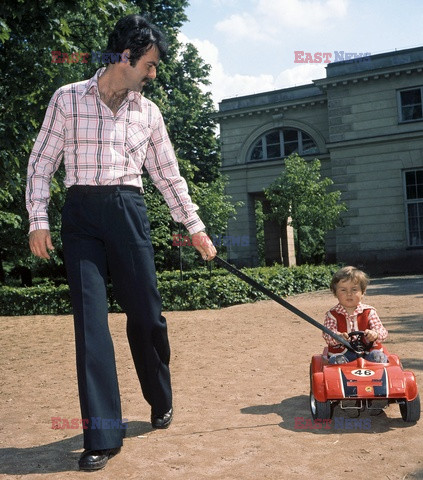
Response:
[{"label": "low trimmed green hedge running behind the man", "polygon": [[[302,265],[299,267],[260,267],[243,269],[244,273],[267,286],[273,292],[289,295],[328,288],[337,265]],[[261,292],[223,269],[158,274],[163,309],[198,310],[221,308],[267,298]],[[120,312],[108,287],[110,312]],[[67,285],[39,285],[17,288],[0,287],[0,315],[57,315],[72,313]]]}]

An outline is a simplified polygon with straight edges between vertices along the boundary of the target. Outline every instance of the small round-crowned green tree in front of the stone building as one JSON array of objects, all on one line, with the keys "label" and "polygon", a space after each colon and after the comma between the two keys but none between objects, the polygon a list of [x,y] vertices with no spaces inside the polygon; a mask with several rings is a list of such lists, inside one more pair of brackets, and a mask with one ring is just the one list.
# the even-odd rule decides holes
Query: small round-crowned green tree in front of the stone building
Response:
[{"label": "small round-crowned green tree in front of the stone building", "polygon": [[320,168],[317,158],[306,162],[293,154],[286,158],[281,175],[265,189],[271,207],[268,218],[294,228],[300,264],[323,260],[325,234],[341,224],[340,215],[346,210],[341,192],[329,191],[333,181],[321,178]]}]

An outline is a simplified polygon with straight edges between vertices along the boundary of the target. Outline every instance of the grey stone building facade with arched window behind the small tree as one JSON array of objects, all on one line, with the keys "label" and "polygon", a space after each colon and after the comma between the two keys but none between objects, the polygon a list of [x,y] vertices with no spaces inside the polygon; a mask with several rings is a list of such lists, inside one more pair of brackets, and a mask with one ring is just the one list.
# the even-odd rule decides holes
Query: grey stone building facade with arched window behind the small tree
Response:
[{"label": "grey stone building facade with arched window behind the small tree", "polygon": [[[312,84],[219,104],[222,173],[241,201],[228,245],[258,264],[255,207],[297,152],[319,158],[348,210],[330,232],[327,260],[375,273],[423,272],[423,47],[330,63]],[[266,204],[264,204],[266,209]],[[294,262],[289,227],[265,224],[266,262]]]}]

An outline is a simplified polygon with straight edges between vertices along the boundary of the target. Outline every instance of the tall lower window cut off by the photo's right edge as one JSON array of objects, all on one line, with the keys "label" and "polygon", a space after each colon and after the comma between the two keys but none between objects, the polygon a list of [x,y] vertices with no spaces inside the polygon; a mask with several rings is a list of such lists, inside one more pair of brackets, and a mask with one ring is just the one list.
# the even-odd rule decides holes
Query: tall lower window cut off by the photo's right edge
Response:
[{"label": "tall lower window cut off by the photo's right edge", "polygon": [[423,169],[404,172],[407,236],[410,247],[423,246]]}]

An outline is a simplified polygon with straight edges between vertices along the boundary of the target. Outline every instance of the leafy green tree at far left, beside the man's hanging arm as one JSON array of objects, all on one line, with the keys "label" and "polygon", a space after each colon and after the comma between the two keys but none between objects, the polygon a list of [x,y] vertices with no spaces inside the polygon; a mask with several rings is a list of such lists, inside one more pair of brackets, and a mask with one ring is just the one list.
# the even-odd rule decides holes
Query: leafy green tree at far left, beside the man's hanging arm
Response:
[{"label": "leafy green tree at far left, beside the man's hanging arm", "polygon": [[[53,92],[65,83],[91,76],[97,68],[92,63],[53,64],[52,51],[91,52],[103,48],[106,33],[122,15],[124,5],[107,0],[2,2],[0,271],[13,268],[24,277],[28,269],[42,265],[31,257],[27,242],[24,192],[28,158]],[[64,193],[60,179],[59,174],[53,182],[50,206],[56,245],[60,245],[57,221]]]}]

